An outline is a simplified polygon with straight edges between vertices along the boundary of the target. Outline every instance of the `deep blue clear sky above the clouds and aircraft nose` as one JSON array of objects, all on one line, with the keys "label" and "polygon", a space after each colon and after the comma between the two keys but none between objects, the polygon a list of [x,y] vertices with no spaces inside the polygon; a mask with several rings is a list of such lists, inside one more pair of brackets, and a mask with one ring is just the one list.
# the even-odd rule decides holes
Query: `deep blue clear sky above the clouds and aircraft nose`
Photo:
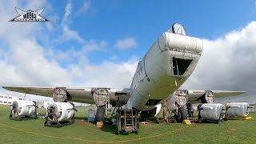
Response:
[{"label": "deep blue clear sky above the clouds and aircraft nose", "polygon": [[[174,22],[181,22],[188,35],[214,39],[246,26],[256,14],[254,1],[55,1],[47,2],[51,7],[47,5],[50,8],[46,6],[42,14],[49,19],[53,15],[58,17],[52,20],[58,26],[47,34],[50,38],[58,38],[62,33],[60,25],[68,2],[72,7],[68,18],[70,30],[77,31],[85,40],[107,43],[104,50],[87,53],[94,64],[106,59],[120,62],[130,57],[142,58],[154,40]],[[81,11],[85,3],[89,6]],[[124,38],[134,38],[137,45],[125,50],[114,47],[117,39]],[[70,40],[50,46],[53,50],[70,50],[70,47],[79,50],[82,44]]]}]

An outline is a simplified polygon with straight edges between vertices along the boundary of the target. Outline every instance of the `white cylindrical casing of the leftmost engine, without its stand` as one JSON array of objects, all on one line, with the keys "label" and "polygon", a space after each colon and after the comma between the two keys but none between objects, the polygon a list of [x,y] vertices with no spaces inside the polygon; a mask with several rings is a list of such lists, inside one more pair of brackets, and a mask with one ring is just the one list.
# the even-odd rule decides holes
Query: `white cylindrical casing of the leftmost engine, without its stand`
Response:
[{"label": "white cylindrical casing of the leftmost engine, without its stand", "polygon": [[19,116],[31,116],[35,112],[33,101],[17,100],[12,102],[11,108],[16,109]]}]

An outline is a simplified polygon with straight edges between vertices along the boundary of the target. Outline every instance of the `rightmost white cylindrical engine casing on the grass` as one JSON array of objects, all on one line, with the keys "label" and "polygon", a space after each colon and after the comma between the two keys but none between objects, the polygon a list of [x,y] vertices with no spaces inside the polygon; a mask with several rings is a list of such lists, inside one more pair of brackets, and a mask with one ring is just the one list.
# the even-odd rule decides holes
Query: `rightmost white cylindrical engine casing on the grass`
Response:
[{"label": "rightmost white cylindrical engine casing on the grass", "polygon": [[249,114],[249,106],[247,102],[230,102],[227,114],[231,117],[246,117]]}]

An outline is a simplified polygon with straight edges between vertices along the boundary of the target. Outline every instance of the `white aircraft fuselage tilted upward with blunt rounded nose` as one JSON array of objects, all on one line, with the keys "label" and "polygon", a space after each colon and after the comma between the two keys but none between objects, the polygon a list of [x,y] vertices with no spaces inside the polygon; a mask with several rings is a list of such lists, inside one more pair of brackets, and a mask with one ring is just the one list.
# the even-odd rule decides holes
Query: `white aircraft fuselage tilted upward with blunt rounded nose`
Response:
[{"label": "white aircraft fuselage tilted upward with blunt rounded nose", "polygon": [[[199,38],[167,32],[162,34],[138,63],[130,86],[128,108],[154,109],[162,99],[166,99],[186,82],[201,54],[202,41]],[[182,74],[175,74],[174,68],[181,62],[188,63],[186,69]]]}]

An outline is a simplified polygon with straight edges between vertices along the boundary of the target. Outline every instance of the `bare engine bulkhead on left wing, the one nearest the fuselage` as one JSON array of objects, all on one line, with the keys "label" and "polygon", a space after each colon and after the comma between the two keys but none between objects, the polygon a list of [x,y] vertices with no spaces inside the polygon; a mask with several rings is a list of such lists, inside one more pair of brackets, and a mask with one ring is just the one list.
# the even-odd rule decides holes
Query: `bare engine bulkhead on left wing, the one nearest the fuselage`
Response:
[{"label": "bare engine bulkhead on left wing, the one nearest the fuselage", "polygon": [[93,88],[92,93],[94,102],[97,106],[106,106],[110,103],[110,89],[108,88]]}]

